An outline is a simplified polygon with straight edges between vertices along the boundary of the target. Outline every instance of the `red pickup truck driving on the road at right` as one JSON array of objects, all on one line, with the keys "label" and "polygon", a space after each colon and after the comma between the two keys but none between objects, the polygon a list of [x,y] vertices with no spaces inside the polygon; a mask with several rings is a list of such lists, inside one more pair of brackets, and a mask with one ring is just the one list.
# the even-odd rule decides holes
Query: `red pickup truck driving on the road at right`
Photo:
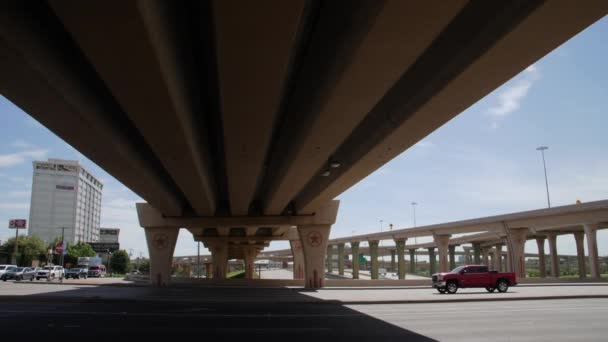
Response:
[{"label": "red pickup truck driving on the road at right", "polygon": [[488,292],[507,292],[509,286],[517,285],[515,273],[488,271],[488,266],[458,266],[448,273],[433,274],[433,287],[439,293],[456,293],[458,288],[485,287]]}]

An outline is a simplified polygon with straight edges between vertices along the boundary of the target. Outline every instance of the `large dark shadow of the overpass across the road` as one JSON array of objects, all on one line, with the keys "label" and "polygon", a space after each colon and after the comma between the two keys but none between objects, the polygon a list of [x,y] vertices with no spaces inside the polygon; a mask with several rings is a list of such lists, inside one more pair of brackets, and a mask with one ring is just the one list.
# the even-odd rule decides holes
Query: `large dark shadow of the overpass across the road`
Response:
[{"label": "large dark shadow of the overpass across the road", "polygon": [[3,329],[8,334],[3,337],[28,331],[34,324],[39,336],[104,339],[434,341],[339,303],[298,293],[302,289],[60,288],[19,297],[0,295],[0,325],[10,327]]}]

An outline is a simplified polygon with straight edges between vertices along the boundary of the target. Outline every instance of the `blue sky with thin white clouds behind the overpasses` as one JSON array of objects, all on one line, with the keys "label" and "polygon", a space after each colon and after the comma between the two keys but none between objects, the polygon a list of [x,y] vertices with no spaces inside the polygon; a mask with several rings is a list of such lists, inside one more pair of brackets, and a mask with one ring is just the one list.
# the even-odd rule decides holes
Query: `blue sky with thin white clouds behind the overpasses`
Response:
[{"label": "blue sky with thin white clouds behind the overpasses", "polygon": [[[608,199],[606,41],[608,17],[344,192],[331,237],[379,232],[389,223],[411,227],[412,202],[418,226],[544,208],[538,146],[549,147],[552,206]],[[49,157],[79,160],[104,182],[101,226],[121,228],[121,248],[147,256],[135,212],[142,199],[1,94],[0,240],[15,234],[9,219],[29,218],[32,161]],[[195,255],[196,247],[182,230],[175,255]],[[268,249],[282,248],[288,243]],[[608,231],[598,233],[598,248],[608,255]],[[536,252],[536,243],[528,241],[526,251]],[[576,254],[574,238],[558,237],[558,251]]]}]

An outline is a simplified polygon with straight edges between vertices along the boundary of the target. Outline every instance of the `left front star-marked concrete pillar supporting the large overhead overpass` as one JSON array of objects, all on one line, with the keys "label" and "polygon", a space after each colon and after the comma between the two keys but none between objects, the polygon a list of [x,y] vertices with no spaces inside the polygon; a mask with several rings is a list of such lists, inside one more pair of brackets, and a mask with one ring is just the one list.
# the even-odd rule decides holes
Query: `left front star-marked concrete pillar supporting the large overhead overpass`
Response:
[{"label": "left front star-marked concrete pillar supporting the large overhead overpass", "polygon": [[148,254],[150,255],[150,283],[154,287],[165,287],[171,280],[171,263],[179,228],[144,228]]}]

